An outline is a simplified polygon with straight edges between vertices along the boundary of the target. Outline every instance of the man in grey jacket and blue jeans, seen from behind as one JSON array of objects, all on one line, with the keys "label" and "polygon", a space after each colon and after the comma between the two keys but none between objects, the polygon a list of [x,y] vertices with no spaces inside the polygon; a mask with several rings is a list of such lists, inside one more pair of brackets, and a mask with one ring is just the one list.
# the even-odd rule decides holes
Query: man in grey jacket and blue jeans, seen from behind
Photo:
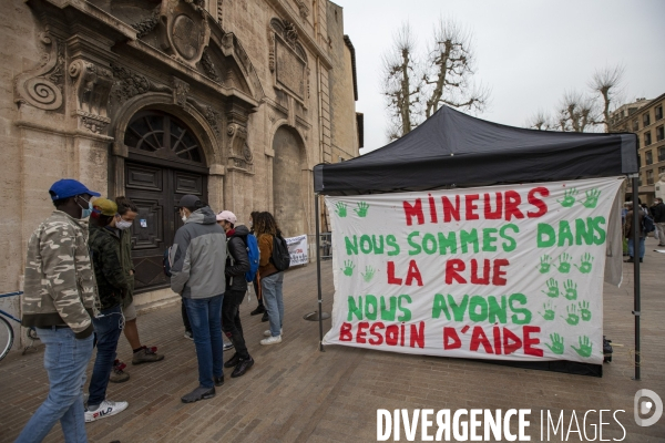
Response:
[{"label": "man in grey jacket and blue jeans, seen from behind", "polygon": [[198,387],[181,399],[192,403],[212,399],[215,387],[224,384],[221,316],[226,235],[212,209],[195,195],[182,197],[178,207],[185,225],[175,233],[171,248],[171,289],[183,297],[194,333]]}]

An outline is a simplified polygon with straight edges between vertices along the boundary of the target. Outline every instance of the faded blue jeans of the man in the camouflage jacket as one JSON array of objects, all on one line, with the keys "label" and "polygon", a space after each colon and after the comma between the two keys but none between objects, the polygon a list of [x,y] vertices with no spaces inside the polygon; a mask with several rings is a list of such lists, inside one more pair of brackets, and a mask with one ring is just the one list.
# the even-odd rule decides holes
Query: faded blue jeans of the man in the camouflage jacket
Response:
[{"label": "faded blue jeans of the man in the camouflage jacket", "polygon": [[83,408],[85,369],[92,357],[92,336],[76,340],[69,328],[37,328],[49,374],[49,396],[34,412],[17,440],[41,442],[60,420],[65,442],[88,442]]}]

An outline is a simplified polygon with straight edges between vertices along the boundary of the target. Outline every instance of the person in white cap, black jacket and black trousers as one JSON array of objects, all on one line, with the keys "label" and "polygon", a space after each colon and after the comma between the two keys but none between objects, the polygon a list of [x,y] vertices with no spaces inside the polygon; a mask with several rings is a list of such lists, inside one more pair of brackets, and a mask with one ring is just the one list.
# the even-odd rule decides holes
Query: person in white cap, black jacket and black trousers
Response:
[{"label": "person in white cap, black jacket and black trousers", "polygon": [[231,377],[244,375],[254,365],[254,359],[247,352],[243,326],[241,324],[241,303],[247,291],[245,272],[249,270],[247,255],[247,235],[249,229],[244,225],[235,226],[236,216],[231,210],[217,214],[217,224],[224,228],[227,238],[226,292],[222,301],[222,330],[232,341],[236,353],[224,363],[224,368],[234,368]]}]

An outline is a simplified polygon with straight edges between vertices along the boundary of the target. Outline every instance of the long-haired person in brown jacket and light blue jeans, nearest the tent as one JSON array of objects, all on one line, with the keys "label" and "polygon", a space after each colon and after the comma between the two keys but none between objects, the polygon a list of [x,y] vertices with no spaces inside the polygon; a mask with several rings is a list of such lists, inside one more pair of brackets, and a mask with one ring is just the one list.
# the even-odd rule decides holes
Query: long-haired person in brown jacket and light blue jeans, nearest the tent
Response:
[{"label": "long-haired person in brown jacket and light blue jeans, nearest the tent", "polygon": [[[282,328],[284,320],[284,297],[282,286],[284,284],[284,251],[286,241],[282,231],[270,213],[257,214],[254,219],[254,231],[258,241],[260,287],[264,305],[268,311],[270,329],[264,332],[266,337],[260,344],[276,344],[282,342]],[[277,246],[277,247],[276,247]],[[288,260],[288,249],[286,251]],[[275,260],[277,258],[277,260]]]}]

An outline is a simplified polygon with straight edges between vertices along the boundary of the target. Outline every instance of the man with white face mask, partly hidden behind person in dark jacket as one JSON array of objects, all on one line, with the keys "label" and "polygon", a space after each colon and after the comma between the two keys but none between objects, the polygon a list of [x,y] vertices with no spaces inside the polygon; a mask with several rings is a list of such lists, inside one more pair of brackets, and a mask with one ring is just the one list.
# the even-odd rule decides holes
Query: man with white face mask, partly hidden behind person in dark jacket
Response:
[{"label": "man with white face mask, partly hidden behind person in dark jacket", "polygon": [[[134,264],[132,261],[132,231],[131,227],[139,214],[139,208],[127,197],[115,197],[117,214],[114,217],[112,227],[120,230],[120,262],[129,284],[129,290],[123,298],[122,312],[125,317],[124,336],[133,350],[132,364],[151,363],[164,360],[163,354],[158,354],[156,347],[146,347],[141,344],[139,338],[139,328],[136,327],[136,308],[134,307]],[[129,379],[124,372],[126,365],[115,360],[110,381],[120,383]]]}]

